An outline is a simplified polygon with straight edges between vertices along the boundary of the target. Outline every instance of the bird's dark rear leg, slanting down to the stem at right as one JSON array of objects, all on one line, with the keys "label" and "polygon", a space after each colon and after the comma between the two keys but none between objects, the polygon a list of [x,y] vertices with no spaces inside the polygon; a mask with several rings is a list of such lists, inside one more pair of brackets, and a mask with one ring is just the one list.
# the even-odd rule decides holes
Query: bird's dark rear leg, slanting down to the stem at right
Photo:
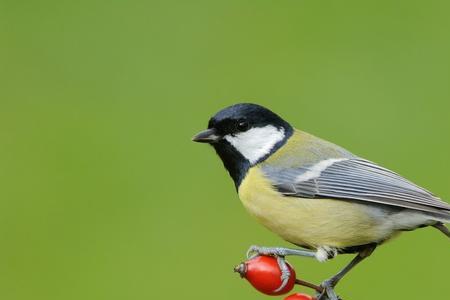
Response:
[{"label": "bird's dark rear leg, slanting down to the stem at right", "polygon": [[357,264],[362,262],[365,258],[369,257],[372,252],[375,250],[376,245],[367,246],[364,250],[358,253],[358,255],[353,258],[353,260],[345,266],[339,273],[331,277],[330,279],[325,280],[320,285],[324,290],[318,296],[317,300],[339,300],[339,297],[334,292],[334,287],[338,284],[338,282],[348,273],[351,269],[353,269]]}]

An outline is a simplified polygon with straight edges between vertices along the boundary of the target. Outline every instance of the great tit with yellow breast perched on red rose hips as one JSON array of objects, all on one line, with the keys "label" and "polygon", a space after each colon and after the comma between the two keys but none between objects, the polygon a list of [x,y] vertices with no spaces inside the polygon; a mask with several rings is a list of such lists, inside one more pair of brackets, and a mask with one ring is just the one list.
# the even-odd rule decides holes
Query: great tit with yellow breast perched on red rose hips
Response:
[{"label": "great tit with yellow breast perched on red rose hips", "polygon": [[248,257],[272,255],[281,290],[288,255],[326,261],[356,254],[322,282],[318,300],[338,300],[337,283],[403,231],[431,226],[450,238],[450,205],[399,174],[294,128],[253,103],[226,107],[192,140],[210,144],[246,210],[294,248],[251,246]]}]

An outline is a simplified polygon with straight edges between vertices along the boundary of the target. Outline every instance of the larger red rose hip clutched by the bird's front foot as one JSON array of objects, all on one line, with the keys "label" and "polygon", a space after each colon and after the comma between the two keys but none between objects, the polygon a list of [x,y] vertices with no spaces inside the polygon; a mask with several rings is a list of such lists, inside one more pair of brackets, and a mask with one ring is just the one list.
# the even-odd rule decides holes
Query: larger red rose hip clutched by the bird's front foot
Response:
[{"label": "larger red rose hip clutched by the bird's front foot", "polygon": [[276,291],[281,286],[281,270],[277,259],[273,256],[257,256],[241,263],[235,268],[241,277],[266,295],[283,295],[289,293],[295,284],[295,270],[288,264],[291,276],[286,286]]}]

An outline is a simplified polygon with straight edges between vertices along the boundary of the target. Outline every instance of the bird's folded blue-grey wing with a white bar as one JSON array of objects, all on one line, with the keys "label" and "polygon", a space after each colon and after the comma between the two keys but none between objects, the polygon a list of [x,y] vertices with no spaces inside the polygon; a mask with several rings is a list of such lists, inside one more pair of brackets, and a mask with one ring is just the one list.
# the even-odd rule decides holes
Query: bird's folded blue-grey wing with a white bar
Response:
[{"label": "bird's folded blue-grey wing with a white bar", "polygon": [[450,205],[400,175],[370,161],[327,159],[315,165],[263,171],[286,196],[381,203],[450,218]]}]

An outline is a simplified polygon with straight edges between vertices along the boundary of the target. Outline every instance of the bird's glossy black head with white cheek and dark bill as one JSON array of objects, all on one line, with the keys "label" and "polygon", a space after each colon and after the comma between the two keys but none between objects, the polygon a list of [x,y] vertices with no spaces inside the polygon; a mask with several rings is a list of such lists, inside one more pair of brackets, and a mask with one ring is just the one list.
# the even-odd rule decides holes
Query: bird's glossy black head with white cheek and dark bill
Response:
[{"label": "bird's glossy black head with white cheek and dark bill", "polygon": [[269,109],[240,103],[216,113],[208,129],[192,140],[211,144],[238,186],[248,168],[268,158],[292,132],[289,123]]}]

